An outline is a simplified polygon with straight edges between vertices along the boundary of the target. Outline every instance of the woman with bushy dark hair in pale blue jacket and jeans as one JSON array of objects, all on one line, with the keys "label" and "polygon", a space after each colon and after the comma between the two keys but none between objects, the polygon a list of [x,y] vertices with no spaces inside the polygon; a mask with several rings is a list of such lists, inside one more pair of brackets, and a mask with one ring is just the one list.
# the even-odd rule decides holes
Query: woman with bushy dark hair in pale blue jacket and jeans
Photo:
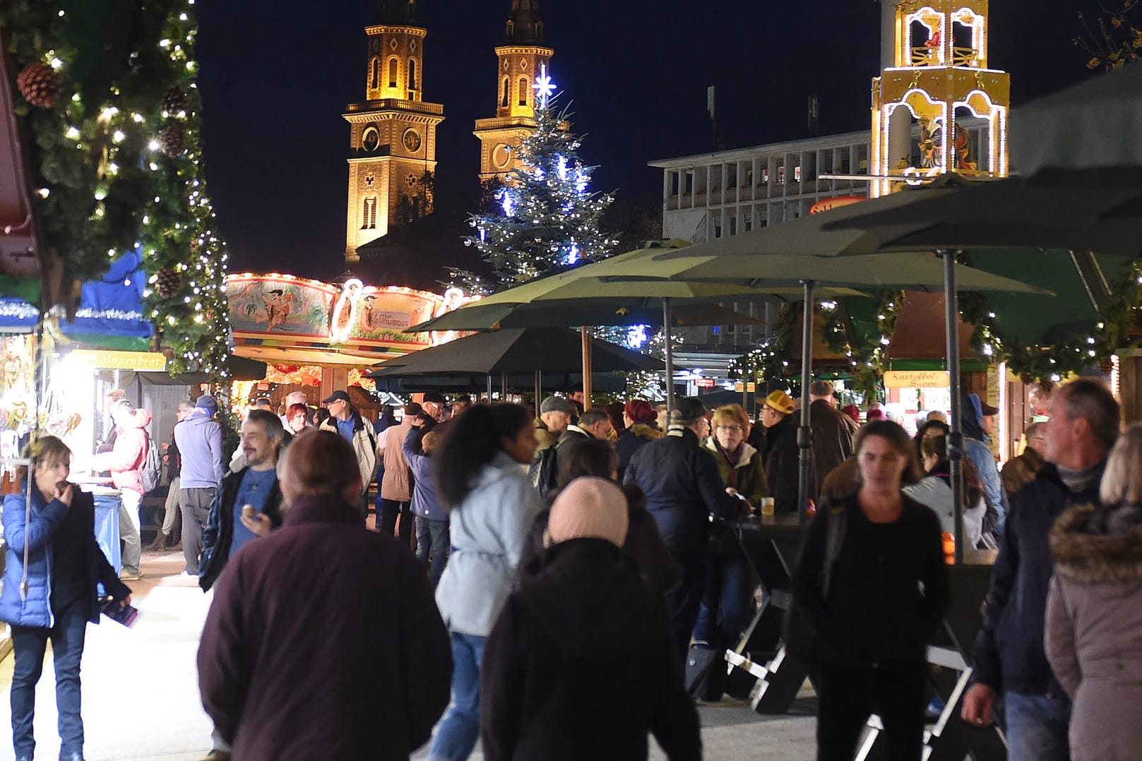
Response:
[{"label": "woman with bushy dark hair in pale blue jacket and jeans", "polygon": [[542,509],[524,469],[536,445],[526,410],[476,405],[451,423],[433,455],[436,491],[451,523],[452,551],[436,605],[452,640],[452,705],[436,730],[429,761],[467,759],[480,735],[484,641]]}]

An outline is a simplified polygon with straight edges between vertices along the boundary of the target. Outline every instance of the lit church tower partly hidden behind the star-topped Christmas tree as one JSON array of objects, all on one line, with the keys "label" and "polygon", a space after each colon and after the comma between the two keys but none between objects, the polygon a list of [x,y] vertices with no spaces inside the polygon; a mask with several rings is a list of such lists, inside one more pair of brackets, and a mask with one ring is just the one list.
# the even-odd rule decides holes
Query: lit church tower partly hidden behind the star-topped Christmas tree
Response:
[{"label": "lit church tower partly hidden behind the star-topped Christmas tree", "polygon": [[540,66],[550,67],[555,50],[544,46],[539,0],[512,0],[504,44],[496,48],[496,115],[477,119],[480,181],[504,179],[515,167],[514,148],[536,126],[536,91],[531,84]]}]

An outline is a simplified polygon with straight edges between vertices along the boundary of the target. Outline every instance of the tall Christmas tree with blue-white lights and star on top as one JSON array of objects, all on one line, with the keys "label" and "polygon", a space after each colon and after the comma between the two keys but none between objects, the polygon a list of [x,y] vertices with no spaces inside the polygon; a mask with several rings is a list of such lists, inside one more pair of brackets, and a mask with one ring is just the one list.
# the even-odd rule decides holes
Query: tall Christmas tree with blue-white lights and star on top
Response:
[{"label": "tall Christmas tree with blue-white lights and star on top", "polygon": [[536,126],[517,148],[518,167],[494,191],[494,210],[473,214],[475,245],[492,265],[497,285],[514,285],[552,269],[605,258],[616,241],[600,230],[613,200],[590,192],[592,167],[579,157],[571,113],[555,111],[546,67],[536,78]]}]

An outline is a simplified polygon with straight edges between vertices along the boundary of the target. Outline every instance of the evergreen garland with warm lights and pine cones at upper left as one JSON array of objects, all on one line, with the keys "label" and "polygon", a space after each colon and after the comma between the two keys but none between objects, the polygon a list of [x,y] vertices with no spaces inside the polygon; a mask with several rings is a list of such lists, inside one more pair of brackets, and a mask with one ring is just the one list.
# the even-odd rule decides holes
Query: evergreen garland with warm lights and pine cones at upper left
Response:
[{"label": "evergreen garland with warm lights and pine cones at upper left", "polygon": [[102,3],[0,2],[42,245],[65,282],[138,249],[144,314],[170,372],[220,382],[227,256],[202,164],[194,0],[152,0],[127,16]]}]

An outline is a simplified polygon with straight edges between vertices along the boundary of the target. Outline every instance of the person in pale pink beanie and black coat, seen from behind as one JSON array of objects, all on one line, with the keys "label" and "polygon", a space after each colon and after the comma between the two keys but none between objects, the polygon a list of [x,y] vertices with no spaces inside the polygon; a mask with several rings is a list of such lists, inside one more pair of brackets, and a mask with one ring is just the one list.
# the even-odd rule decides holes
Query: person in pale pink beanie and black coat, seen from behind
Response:
[{"label": "person in pale pink beanie and black coat, seen from behind", "polygon": [[[669,612],[621,561],[627,501],[577,478],[552,505],[548,549],[488,638],[481,737],[488,761],[644,760],[651,732],[671,761],[701,759]],[[622,710],[600,710],[621,695]]]}]

